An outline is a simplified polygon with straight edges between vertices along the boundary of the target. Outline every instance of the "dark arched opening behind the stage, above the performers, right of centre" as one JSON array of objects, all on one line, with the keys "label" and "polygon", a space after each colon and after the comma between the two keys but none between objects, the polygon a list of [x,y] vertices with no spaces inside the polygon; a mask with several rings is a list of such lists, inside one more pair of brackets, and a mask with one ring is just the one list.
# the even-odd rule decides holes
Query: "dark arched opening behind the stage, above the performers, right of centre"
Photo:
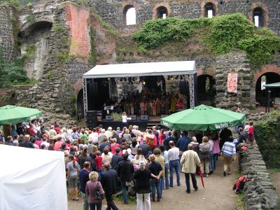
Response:
[{"label": "dark arched opening behind the stage, above the performers, right of centre", "polygon": [[144,76],[141,78],[145,86],[145,90],[162,94],[165,92],[165,78],[163,76]]}]

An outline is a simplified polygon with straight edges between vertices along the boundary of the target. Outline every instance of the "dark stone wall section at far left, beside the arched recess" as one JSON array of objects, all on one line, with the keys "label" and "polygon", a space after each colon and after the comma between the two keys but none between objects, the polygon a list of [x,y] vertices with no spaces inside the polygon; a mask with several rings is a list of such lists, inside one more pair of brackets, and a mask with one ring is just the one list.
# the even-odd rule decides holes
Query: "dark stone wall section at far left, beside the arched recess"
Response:
[{"label": "dark stone wall section at far left, beside the arched recess", "polygon": [[12,7],[0,6],[0,49],[3,50],[3,59],[6,61],[17,55],[13,34],[13,27],[16,27],[17,21]]}]

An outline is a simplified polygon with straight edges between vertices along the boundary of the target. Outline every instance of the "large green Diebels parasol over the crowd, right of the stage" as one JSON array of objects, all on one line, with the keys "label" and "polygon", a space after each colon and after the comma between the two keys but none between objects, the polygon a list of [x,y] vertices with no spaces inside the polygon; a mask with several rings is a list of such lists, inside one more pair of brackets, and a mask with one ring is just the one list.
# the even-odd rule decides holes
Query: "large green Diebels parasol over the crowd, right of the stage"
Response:
[{"label": "large green Diebels parasol over the crowd, right of the stage", "polygon": [[177,130],[220,130],[241,125],[246,120],[242,113],[212,106],[195,106],[160,119],[160,124]]}]

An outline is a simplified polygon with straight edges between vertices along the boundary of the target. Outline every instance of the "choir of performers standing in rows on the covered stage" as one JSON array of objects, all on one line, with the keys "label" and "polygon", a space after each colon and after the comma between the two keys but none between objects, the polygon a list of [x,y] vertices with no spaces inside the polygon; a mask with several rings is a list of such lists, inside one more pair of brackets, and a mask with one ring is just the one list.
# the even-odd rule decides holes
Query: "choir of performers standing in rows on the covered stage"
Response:
[{"label": "choir of performers standing in rows on the covered stage", "polygon": [[127,94],[120,102],[107,102],[107,104],[104,104],[102,107],[105,114],[110,114],[112,112],[122,113],[124,111],[127,115],[131,116],[169,115],[183,109],[188,109],[186,95],[174,93],[156,94],[153,91],[149,92],[144,90],[142,90],[141,93],[134,92],[132,94]]}]

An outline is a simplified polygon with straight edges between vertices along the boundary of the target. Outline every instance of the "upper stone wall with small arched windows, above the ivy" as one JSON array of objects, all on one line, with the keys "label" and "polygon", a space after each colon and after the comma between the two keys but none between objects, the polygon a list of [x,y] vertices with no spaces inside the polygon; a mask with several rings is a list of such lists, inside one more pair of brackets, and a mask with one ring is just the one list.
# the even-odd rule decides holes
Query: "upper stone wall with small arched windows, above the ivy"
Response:
[{"label": "upper stone wall with small arched windows, above the ivy", "polygon": [[[102,16],[105,22],[111,23],[114,27],[125,31],[130,26],[125,25],[124,8],[127,5],[132,5],[136,8],[137,25],[141,25],[146,20],[153,18],[153,12],[158,6],[167,6],[172,17],[179,18],[200,18],[204,14],[203,0],[181,0],[181,1],[122,1],[122,0],[91,0],[90,5],[94,6],[99,15]],[[224,0],[213,2],[215,5],[216,15],[225,15],[230,13],[242,13],[252,21],[252,10],[255,6],[261,6],[265,11],[265,25],[276,33],[280,34],[280,3],[277,0]]]}]

